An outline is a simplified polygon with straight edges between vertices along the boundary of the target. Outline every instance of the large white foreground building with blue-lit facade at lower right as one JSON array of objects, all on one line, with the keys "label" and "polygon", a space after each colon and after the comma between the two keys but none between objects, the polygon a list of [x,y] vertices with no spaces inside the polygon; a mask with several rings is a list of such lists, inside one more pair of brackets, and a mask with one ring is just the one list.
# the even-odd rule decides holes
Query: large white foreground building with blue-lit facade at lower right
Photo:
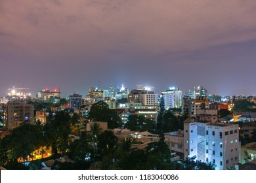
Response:
[{"label": "large white foreground building with blue-lit facade at lower right", "polygon": [[198,110],[184,121],[184,131],[165,133],[171,152],[181,159],[214,163],[215,169],[234,167],[240,152],[238,125],[217,122],[217,110]]}]

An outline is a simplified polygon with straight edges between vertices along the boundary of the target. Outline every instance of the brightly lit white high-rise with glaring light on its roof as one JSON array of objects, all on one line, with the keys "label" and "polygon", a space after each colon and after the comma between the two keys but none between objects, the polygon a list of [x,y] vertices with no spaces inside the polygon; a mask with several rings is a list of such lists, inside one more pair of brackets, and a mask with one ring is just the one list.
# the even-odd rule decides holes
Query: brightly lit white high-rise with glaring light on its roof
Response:
[{"label": "brightly lit white high-rise with glaring light on its roof", "polygon": [[165,109],[182,107],[182,91],[179,88],[169,88],[165,92],[161,92]]}]

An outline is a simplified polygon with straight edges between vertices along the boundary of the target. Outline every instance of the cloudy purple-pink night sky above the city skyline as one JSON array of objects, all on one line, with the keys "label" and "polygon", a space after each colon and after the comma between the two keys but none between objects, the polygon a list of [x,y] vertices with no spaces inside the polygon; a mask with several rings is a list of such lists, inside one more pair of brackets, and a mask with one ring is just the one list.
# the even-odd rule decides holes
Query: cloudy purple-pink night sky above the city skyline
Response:
[{"label": "cloudy purple-pink night sky above the city skyline", "polygon": [[0,96],[136,84],[256,95],[255,0],[0,0]]}]

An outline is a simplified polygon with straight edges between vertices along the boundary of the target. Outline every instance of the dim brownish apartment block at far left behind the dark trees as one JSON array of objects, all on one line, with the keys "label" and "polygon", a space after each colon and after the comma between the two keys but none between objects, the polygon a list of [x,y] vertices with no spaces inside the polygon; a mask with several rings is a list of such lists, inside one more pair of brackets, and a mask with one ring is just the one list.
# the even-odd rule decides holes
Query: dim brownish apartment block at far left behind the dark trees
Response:
[{"label": "dim brownish apartment block at far left behind the dark trees", "polygon": [[24,101],[9,101],[7,104],[7,127],[14,129],[22,122],[33,124],[33,104]]}]

